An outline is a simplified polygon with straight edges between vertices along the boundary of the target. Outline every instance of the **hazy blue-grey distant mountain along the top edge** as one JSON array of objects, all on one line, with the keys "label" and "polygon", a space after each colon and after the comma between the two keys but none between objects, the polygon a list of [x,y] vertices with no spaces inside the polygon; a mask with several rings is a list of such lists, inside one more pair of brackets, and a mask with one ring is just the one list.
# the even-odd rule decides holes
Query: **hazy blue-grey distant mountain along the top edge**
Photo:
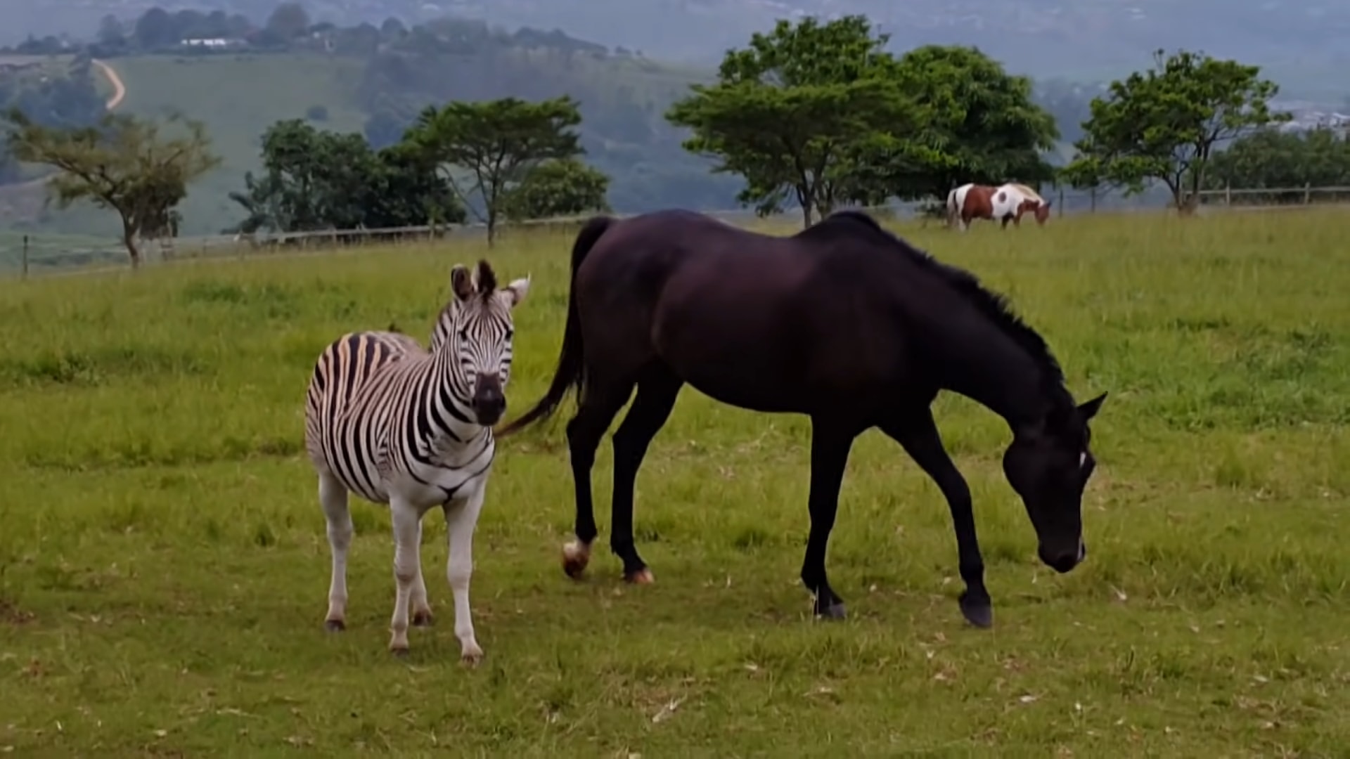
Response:
[{"label": "hazy blue-grey distant mountain along the top edge", "polygon": [[[146,0],[5,0],[0,43],[24,32],[89,35],[104,14],[134,18]],[[266,18],[274,0],[188,0]],[[350,24],[444,15],[505,27],[562,28],[571,36],[649,57],[711,62],[775,19],[865,14],[896,49],[977,45],[1037,77],[1096,80],[1149,63],[1157,47],[1200,49],[1268,66],[1293,93],[1350,92],[1350,3],[1312,0],[315,0],[310,16]],[[8,36],[9,39],[4,39]]]}]

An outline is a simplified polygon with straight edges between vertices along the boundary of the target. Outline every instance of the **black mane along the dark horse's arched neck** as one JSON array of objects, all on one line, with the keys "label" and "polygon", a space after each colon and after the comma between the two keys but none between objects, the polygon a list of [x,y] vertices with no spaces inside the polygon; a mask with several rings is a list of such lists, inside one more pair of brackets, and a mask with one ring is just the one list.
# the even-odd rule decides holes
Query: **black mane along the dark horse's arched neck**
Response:
[{"label": "black mane along the dark horse's arched neck", "polygon": [[1050,346],[1045,343],[1045,338],[1042,338],[1040,332],[1033,330],[1026,321],[1022,321],[1022,319],[1013,312],[1011,304],[1006,296],[986,289],[975,274],[971,274],[964,269],[942,263],[941,261],[933,258],[929,253],[911,246],[895,234],[887,231],[876,221],[876,219],[861,211],[837,211],[811,228],[819,228],[825,224],[837,227],[849,224],[853,228],[865,228],[873,239],[884,242],[888,247],[900,251],[925,271],[936,274],[953,290],[964,296],[965,300],[976,308],[976,311],[996,324],[999,330],[1021,346],[1022,350],[1033,358],[1033,361],[1040,363],[1046,373],[1046,378],[1052,384],[1060,388],[1064,386],[1064,370],[1060,367],[1060,362],[1054,358],[1054,354],[1050,352]]}]

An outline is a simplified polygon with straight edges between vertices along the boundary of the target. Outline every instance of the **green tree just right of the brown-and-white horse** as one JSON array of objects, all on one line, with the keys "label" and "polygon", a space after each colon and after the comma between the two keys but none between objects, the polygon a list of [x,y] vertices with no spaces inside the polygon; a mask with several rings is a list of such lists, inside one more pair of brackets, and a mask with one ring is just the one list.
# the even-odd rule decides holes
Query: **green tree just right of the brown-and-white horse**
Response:
[{"label": "green tree just right of the brown-and-white horse", "polygon": [[1278,86],[1261,78],[1260,66],[1185,50],[1158,50],[1154,65],[1092,100],[1065,177],[1076,186],[1114,182],[1127,194],[1160,181],[1173,205],[1189,212],[1216,147],[1289,115],[1270,109]]}]

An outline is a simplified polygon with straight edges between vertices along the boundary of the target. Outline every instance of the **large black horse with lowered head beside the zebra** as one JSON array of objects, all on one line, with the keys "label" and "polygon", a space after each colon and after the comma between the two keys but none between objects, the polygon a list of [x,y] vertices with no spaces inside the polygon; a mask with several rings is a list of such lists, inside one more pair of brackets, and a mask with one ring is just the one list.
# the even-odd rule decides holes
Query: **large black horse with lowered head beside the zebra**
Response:
[{"label": "large black horse with lowered head beside the zebra", "polygon": [[734,407],[810,416],[811,531],[802,581],[819,616],[844,616],[825,577],[825,546],[853,439],[878,427],[946,497],[965,581],[961,612],[975,625],[992,624],[971,492],[933,423],[938,390],[1007,420],[1014,436],[1003,473],[1026,505],[1041,560],[1066,573],[1087,555],[1081,501],[1095,466],[1088,420],[1106,393],[1075,405],[1045,340],[1000,296],[860,212],[779,238],[659,211],[597,216],[580,230],[558,371],[535,408],[500,432],[547,419],[578,389],[567,424],[576,490],[568,575],[586,567],[598,532],[595,448],[636,385],[613,438],[610,547],[630,582],[652,581],[633,544],[633,482],[686,382]]}]

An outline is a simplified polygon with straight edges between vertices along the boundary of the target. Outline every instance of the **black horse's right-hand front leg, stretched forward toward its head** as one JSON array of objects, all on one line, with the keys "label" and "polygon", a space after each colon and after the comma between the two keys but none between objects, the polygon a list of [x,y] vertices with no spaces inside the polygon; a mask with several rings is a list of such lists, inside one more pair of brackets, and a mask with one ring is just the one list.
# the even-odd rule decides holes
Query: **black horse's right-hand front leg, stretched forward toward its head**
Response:
[{"label": "black horse's right-hand front leg, stretched forward toward its head", "polygon": [[956,551],[965,592],[961,593],[961,613],[975,627],[994,624],[994,602],[984,587],[984,558],[980,555],[980,542],[975,533],[975,512],[971,508],[971,488],[952,463],[952,456],[942,447],[933,412],[927,407],[915,409],[903,417],[888,420],[880,425],[882,432],[899,443],[919,465],[946,498],[952,511],[952,527],[956,528]]}]

